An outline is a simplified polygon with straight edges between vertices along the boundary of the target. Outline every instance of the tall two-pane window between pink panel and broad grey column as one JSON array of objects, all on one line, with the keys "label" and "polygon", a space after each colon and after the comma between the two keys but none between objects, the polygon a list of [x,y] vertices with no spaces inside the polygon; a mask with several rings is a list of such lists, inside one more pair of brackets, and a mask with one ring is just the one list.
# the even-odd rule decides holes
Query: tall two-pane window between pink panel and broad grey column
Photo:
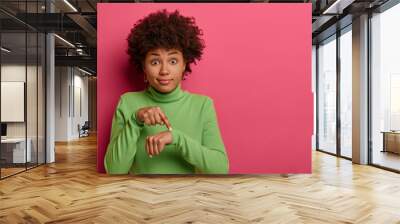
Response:
[{"label": "tall two-pane window between pink panel and broad grey column", "polygon": [[339,32],[340,36],[323,41],[317,51],[318,149],[333,154],[339,149],[340,156],[346,158],[352,157],[351,28],[349,25]]}]

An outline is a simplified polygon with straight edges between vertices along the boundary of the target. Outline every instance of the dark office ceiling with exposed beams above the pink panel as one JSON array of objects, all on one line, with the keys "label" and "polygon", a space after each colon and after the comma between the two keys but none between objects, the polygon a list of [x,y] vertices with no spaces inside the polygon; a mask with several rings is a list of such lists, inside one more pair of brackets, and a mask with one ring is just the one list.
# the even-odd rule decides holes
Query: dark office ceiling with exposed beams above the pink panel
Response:
[{"label": "dark office ceiling with exposed beams above the pink panel", "polygon": [[[317,43],[336,32],[335,24],[341,20],[340,26],[351,23],[351,17],[374,9],[387,0],[201,0],[198,2],[268,2],[268,3],[304,3],[313,5],[312,36],[313,43]],[[96,71],[96,4],[99,2],[188,2],[180,0],[45,0],[18,1],[1,0],[0,24],[3,46],[23,54],[25,39],[21,31],[25,29],[40,32],[55,32],[59,37],[67,40],[66,43],[56,38],[56,65],[86,66]],[[192,1],[193,2],[193,1]],[[338,3],[335,3],[338,2]],[[46,10],[47,7],[47,10]],[[49,11],[52,13],[48,13]],[[27,12],[27,13],[26,13]],[[340,27],[339,26],[339,27]],[[28,45],[30,47],[34,44]],[[33,48],[32,48],[33,49]],[[78,50],[79,49],[79,50]]]}]

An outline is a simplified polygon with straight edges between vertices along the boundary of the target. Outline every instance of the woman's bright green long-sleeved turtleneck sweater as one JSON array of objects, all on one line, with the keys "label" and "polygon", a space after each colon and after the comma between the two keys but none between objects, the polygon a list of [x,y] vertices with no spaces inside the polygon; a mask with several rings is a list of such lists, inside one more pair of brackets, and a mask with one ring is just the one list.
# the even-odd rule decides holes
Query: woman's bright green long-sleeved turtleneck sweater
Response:
[{"label": "woman's bright green long-sleeved turtleneck sweater", "polygon": [[[146,152],[146,137],[167,128],[136,120],[136,111],[148,106],[159,106],[172,125],[172,143],[153,157]],[[112,121],[104,165],[109,174],[228,173],[213,101],[183,91],[179,85],[166,94],[152,87],[123,94]]]}]

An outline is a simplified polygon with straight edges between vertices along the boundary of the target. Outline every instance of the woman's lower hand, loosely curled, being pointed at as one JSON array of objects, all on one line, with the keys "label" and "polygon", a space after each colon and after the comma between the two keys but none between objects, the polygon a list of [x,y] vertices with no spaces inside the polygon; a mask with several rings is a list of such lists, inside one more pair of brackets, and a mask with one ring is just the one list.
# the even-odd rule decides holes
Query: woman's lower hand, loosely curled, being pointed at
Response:
[{"label": "woman's lower hand, loosely curled, being pointed at", "polygon": [[146,151],[152,157],[158,155],[164,149],[165,145],[172,143],[172,133],[170,131],[163,131],[156,135],[149,135],[146,137]]}]

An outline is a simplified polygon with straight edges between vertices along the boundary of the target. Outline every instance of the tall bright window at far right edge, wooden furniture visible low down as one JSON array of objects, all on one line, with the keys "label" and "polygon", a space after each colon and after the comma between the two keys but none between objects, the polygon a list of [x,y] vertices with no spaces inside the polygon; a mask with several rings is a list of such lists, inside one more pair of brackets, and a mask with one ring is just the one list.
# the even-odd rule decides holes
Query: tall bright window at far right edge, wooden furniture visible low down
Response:
[{"label": "tall bright window at far right edge, wooden furniture visible low down", "polygon": [[400,170],[400,4],[371,19],[372,163]]}]

